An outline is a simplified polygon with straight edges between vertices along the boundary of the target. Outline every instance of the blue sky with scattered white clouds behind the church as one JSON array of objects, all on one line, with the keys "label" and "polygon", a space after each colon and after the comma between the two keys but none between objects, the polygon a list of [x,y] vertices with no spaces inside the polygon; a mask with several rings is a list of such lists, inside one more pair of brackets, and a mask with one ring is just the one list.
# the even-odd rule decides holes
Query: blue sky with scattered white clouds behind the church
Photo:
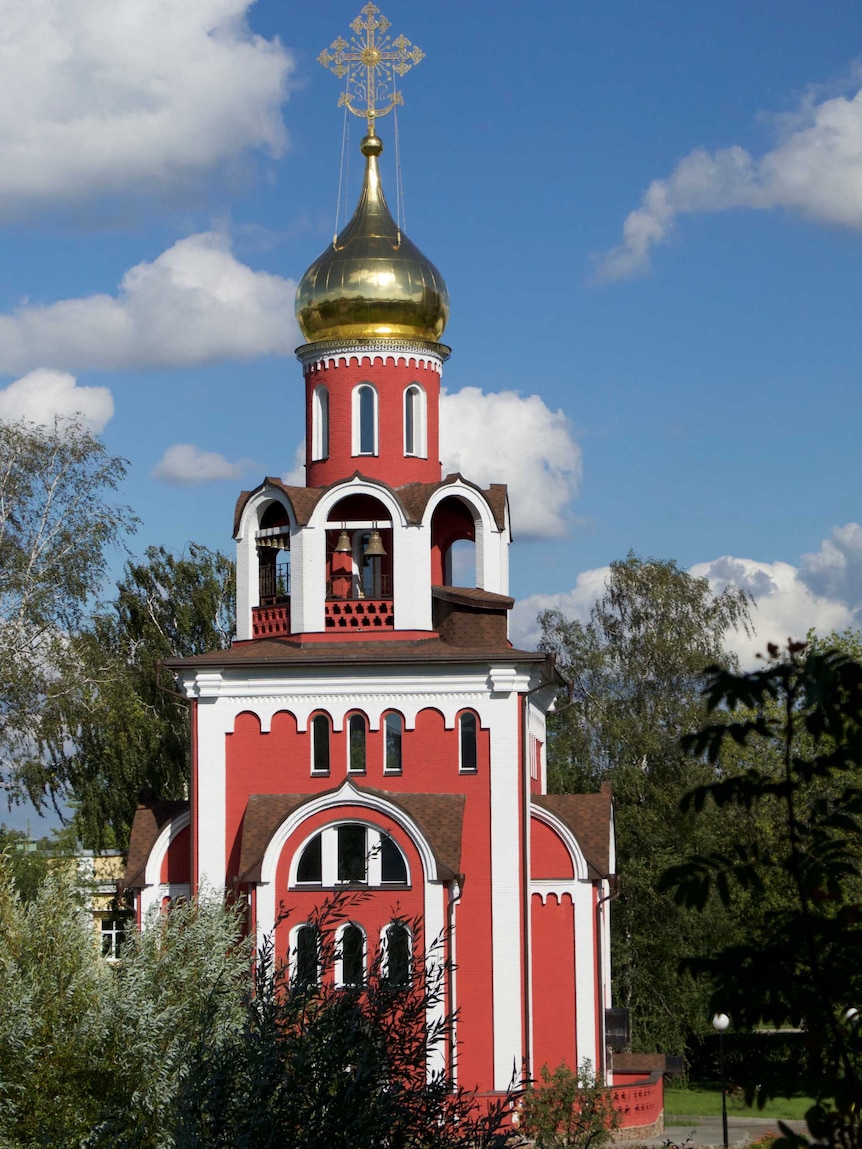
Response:
[{"label": "blue sky with scattered white clouds behind the church", "polygon": [[[136,552],[230,550],[237,492],[295,468],[343,132],[316,56],[359,7],[0,0],[0,416],[83,410]],[[511,487],[516,637],[630,548],[748,587],[759,647],[856,625],[859,3],[380,7],[426,54],[406,230],[452,296],[444,462]]]}]

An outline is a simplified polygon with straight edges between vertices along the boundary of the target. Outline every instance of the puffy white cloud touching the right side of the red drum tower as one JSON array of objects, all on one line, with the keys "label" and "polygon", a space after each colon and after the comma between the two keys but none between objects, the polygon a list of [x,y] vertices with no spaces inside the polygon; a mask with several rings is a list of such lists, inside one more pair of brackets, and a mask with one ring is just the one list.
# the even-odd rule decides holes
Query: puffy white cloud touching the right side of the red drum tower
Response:
[{"label": "puffy white cloud touching the right side of the red drum tower", "polygon": [[442,473],[461,471],[479,486],[508,483],[518,538],[565,533],[565,510],[580,480],[580,447],[569,421],[538,395],[484,394],[464,387],[440,396]]}]

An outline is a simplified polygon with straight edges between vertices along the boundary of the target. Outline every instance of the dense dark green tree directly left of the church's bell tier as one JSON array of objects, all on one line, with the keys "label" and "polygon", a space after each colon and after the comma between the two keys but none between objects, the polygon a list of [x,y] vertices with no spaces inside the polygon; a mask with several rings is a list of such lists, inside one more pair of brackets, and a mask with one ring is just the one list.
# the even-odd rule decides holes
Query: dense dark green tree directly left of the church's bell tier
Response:
[{"label": "dense dark green tree directly left of the church's bell tier", "polygon": [[190,543],[182,555],[149,547],[126,563],[113,602],[75,638],[72,684],[49,695],[44,754],[24,779],[31,795],[66,799],[86,846],[125,848],[143,794],[183,797],[190,738],[185,702],[163,658],[230,645],[233,564]]}]

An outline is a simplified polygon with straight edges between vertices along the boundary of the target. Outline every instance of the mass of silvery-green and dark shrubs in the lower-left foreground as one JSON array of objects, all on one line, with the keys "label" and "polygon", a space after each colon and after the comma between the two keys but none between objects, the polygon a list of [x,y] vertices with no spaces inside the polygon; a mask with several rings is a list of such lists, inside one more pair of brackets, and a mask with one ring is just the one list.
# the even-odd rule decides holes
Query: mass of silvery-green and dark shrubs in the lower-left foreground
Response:
[{"label": "mass of silvery-green and dark shrubs in the lower-left foreground", "polygon": [[333,985],[353,895],[322,908],[321,980],[298,985],[269,947],[253,973],[244,905],[175,905],[109,967],[69,879],[49,876],[24,905],[3,874],[0,855],[3,1149],[500,1143],[508,1105],[485,1113],[426,1073],[453,1021],[426,1026],[442,981],[439,967],[426,976],[418,931],[408,984],[378,953],[363,985]]}]

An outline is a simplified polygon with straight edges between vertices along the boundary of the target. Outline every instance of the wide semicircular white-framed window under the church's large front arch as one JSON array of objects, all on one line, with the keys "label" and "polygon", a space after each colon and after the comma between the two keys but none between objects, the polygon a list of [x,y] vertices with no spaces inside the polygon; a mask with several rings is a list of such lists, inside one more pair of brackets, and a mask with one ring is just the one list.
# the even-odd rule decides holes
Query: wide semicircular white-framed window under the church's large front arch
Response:
[{"label": "wide semicircular white-framed window under the church's large front arch", "polygon": [[343,822],[326,826],[297,858],[294,886],[409,886],[407,858],[395,840],[376,826]]}]

